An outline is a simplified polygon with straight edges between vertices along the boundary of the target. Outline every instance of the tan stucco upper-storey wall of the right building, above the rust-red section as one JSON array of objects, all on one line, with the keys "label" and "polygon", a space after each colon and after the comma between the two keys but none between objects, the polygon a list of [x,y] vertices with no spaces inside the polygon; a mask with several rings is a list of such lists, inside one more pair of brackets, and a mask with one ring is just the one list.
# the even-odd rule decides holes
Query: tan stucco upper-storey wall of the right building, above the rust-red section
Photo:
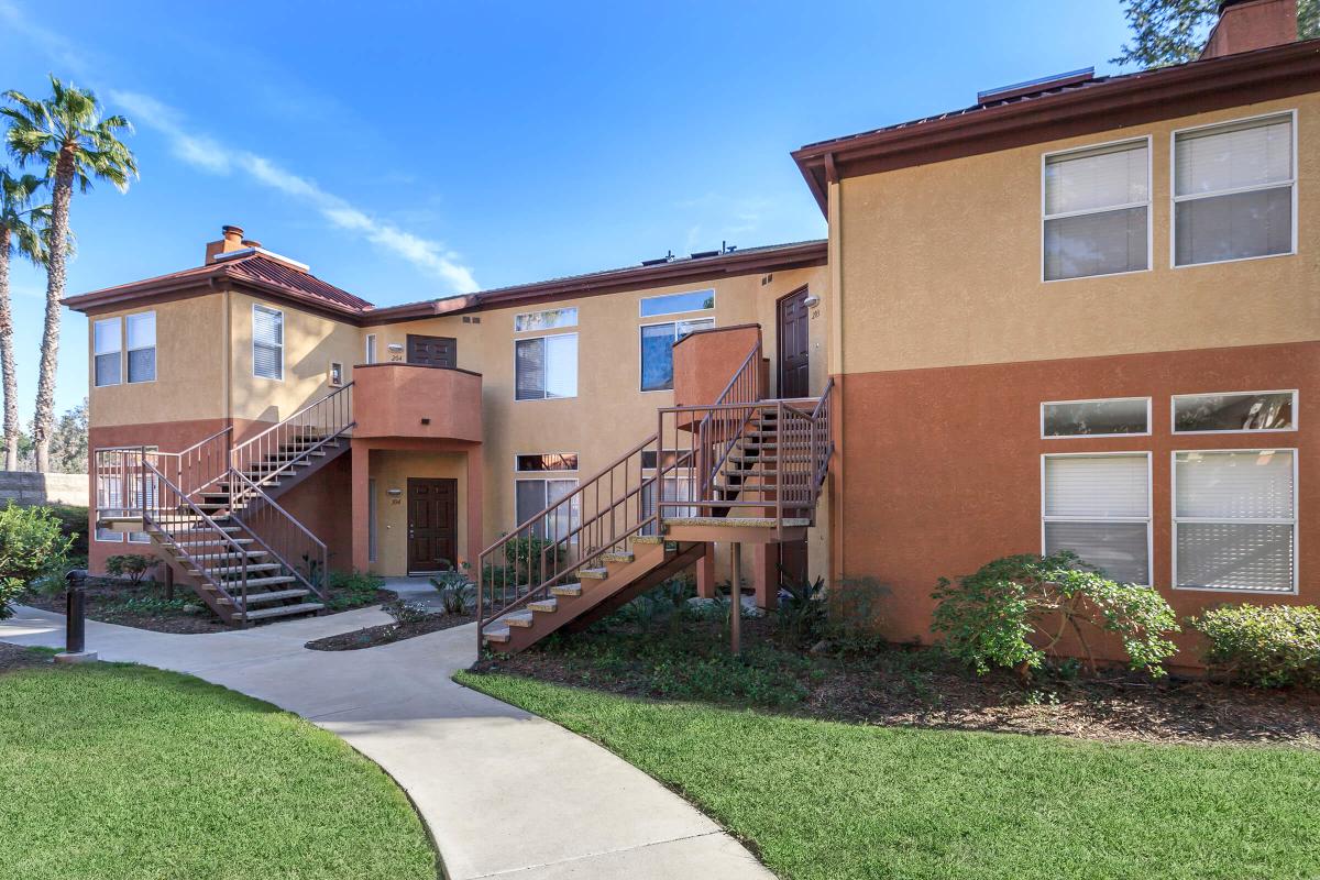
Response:
[{"label": "tan stucco upper-storey wall of the right building, above the rust-red section", "polygon": [[[1298,111],[1298,255],[1172,269],[1175,129]],[[1152,136],[1152,270],[1041,281],[1041,156]],[[832,186],[843,372],[1320,338],[1320,95],[1114,129]]]}]

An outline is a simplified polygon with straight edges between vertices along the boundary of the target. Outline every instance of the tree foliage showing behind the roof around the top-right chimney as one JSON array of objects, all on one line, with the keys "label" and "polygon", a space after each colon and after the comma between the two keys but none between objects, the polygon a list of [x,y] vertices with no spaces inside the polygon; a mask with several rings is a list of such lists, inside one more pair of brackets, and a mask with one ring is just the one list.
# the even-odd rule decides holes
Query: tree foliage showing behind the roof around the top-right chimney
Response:
[{"label": "tree foliage showing behind the roof around the top-right chimney", "polygon": [[[1142,69],[1196,61],[1218,16],[1220,0],[1123,0],[1133,41],[1115,65]],[[1298,0],[1298,38],[1320,37],[1320,0]]]}]

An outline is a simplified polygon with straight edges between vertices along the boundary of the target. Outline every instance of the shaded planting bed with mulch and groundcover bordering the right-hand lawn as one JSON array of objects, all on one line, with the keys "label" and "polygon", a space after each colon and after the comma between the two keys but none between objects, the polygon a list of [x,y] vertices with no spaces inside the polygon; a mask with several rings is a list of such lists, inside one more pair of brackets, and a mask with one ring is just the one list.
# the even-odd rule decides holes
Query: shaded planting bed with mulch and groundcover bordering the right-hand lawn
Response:
[{"label": "shaded planting bed with mulch and groundcover bordering the right-hand lawn", "polygon": [[729,653],[721,613],[677,623],[615,616],[532,649],[488,654],[478,672],[660,699],[752,706],[808,718],[1146,743],[1291,743],[1320,748],[1320,694],[1258,691],[1177,676],[1151,679],[1007,670],[975,676],[937,650],[880,645],[813,653],[784,644],[772,617],[744,619],[743,656]]}]

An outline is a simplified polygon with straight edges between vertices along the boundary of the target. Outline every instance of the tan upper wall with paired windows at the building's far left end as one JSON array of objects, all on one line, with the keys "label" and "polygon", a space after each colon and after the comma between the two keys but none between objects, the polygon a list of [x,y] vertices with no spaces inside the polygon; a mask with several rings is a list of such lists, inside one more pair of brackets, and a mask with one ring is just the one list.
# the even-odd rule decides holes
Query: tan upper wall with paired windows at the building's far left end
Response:
[{"label": "tan upper wall with paired windows at the building's far left end", "polygon": [[[156,381],[127,384],[128,356],[124,352],[125,381],[96,388],[92,325],[103,318],[124,318],[143,311],[156,313]],[[90,424],[96,427],[110,427],[223,418],[226,373],[223,326],[224,298],[219,293],[88,315]],[[120,327],[123,332],[123,323]]]}]

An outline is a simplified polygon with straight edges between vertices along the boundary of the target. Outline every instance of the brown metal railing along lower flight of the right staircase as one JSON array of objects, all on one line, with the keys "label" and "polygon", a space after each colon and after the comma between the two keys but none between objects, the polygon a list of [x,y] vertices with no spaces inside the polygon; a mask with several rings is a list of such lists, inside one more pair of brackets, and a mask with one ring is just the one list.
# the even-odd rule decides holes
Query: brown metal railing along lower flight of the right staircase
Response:
[{"label": "brown metal railing along lower flight of the right staircase", "polygon": [[477,561],[477,644],[486,627],[531,602],[601,554],[623,550],[628,540],[652,528],[656,484],[655,437],[642,441],[577,488],[520,522],[482,550]]}]

